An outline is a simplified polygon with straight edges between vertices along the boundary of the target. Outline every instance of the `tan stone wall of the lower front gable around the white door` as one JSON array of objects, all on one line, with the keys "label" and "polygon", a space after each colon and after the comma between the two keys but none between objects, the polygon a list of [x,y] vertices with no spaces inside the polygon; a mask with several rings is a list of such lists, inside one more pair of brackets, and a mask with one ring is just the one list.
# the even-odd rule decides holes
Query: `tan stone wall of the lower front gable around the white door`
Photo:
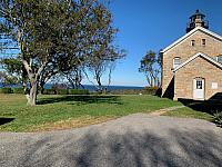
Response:
[{"label": "tan stone wall of the lower front gable around the white door", "polygon": [[[204,79],[204,97],[212,98],[216,92],[222,92],[222,70],[202,57],[198,57],[190,63],[175,71],[174,99],[193,99],[193,79]],[[212,89],[212,82],[218,84],[218,89]]]}]

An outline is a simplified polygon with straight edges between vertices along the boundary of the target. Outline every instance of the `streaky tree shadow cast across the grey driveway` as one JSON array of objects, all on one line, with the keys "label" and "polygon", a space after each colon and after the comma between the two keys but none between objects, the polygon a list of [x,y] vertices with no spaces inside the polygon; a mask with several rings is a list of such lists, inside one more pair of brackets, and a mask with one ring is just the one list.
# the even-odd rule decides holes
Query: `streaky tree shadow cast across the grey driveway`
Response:
[{"label": "streaky tree shadow cast across the grey driveway", "polygon": [[210,130],[179,131],[169,129],[169,136],[152,132],[122,135],[89,131],[78,141],[63,138],[50,144],[51,138],[29,146],[21,166],[211,166],[222,164],[222,140]]}]

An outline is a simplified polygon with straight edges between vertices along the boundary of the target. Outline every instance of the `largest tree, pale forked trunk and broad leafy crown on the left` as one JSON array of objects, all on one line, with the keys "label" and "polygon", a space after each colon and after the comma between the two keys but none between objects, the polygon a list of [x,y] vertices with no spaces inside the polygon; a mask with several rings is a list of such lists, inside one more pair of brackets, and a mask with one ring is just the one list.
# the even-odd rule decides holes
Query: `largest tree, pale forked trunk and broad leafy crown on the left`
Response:
[{"label": "largest tree, pale forked trunk and broad leafy crown on the left", "polygon": [[[91,60],[98,42],[98,28],[109,23],[99,0],[3,0],[0,2],[1,50],[19,50],[30,82],[29,104],[36,105],[37,90],[49,76],[73,69],[75,59]],[[47,76],[47,77],[46,77]]]}]

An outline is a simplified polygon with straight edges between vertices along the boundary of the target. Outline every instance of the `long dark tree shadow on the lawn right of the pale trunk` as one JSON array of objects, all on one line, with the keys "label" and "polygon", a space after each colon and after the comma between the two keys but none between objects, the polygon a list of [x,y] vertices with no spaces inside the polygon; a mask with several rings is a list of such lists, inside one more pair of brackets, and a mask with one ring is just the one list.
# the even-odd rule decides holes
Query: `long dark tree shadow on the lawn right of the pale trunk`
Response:
[{"label": "long dark tree shadow on the lawn right of the pale trunk", "polygon": [[[61,96],[51,98],[41,98],[38,105],[56,104],[56,102],[81,102],[81,104],[117,104],[122,105],[118,96]],[[71,104],[74,105],[74,104]]]}]

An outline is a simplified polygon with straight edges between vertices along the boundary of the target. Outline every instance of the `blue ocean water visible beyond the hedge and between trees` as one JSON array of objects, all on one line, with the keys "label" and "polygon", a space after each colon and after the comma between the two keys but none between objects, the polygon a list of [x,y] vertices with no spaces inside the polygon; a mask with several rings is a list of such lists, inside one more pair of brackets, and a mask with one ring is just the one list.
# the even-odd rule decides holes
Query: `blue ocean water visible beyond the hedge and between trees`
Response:
[{"label": "blue ocean water visible beyond the hedge and between trees", "polygon": [[[50,89],[52,85],[46,84],[44,88]],[[88,89],[90,91],[94,91],[95,87],[92,85],[83,85],[84,89]],[[0,84],[0,88],[2,87],[2,84]],[[10,87],[21,87],[21,85],[11,85]],[[109,86],[108,90],[125,90],[125,89],[143,89],[144,87],[134,87],[134,86]]]}]

